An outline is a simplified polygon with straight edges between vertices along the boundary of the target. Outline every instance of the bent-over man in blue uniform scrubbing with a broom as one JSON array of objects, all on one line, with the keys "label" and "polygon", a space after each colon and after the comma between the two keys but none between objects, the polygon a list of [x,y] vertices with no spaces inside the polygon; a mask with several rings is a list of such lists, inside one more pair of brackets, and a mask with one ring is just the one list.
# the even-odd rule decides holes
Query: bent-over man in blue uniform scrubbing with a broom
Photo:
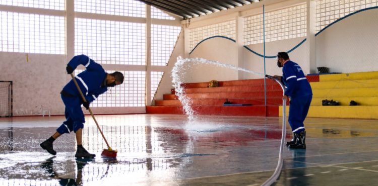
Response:
[{"label": "bent-over man in blue uniform scrubbing with a broom", "polygon": [[78,88],[73,80],[66,84],[61,90],[60,96],[66,106],[66,121],[56,129],[56,132],[40,146],[52,155],[56,152],[52,147],[52,142],[64,133],[72,131],[76,134],[77,158],[94,158],[95,154],[90,154],[82,145],[82,129],[84,128],[84,113],[81,105],[88,110],[89,104],[93,102],[99,95],[103,94],[108,87],[121,84],[123,82],[123,74],[121,72],[113,72],[108,74],[100,64],[97,64],[86,55],[78,55],[71,59],[67,64],[67,73],[74,72],[78,65],[84,65],[87,69],[78,74],[75,78],[87,102],[84,102],[80,96]]}]

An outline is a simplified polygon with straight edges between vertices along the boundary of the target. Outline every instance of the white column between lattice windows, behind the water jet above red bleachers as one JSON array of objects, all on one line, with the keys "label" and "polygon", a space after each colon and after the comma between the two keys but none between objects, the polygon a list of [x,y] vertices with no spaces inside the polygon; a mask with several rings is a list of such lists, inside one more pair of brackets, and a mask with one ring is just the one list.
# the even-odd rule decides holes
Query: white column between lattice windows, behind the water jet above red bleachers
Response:
[{"label": "white column between lattice windows, behind the water jet above red bleachers", "polygon": [[[244,18],[240,16],[240,12],[236,17],[236,46],[237,46],[237,66],[244,68]],[[244,73],[238,71],[237,79],[244,79]]]}]

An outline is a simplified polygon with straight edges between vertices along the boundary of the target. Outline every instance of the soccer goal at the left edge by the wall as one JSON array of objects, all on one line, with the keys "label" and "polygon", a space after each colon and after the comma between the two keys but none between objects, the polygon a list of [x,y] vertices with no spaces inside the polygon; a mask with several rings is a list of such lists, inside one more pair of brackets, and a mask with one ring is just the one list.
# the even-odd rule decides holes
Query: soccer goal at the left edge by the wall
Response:
[{"label": "soccer goal at the left edge by the wall", "polygon": [[0,81],[0,117],[13,116],[13,82]]}]

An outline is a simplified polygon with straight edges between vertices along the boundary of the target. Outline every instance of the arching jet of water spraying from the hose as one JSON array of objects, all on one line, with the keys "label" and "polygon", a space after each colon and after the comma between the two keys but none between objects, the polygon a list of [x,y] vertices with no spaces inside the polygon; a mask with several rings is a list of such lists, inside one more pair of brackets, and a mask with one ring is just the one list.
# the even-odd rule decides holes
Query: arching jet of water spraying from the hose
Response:
[{"label": "arching jet of water spraying from the hose", "polygon": [[[192,101],[189,97],[185,95],[184,87],[181,85],[183,82],[181,80],[181,77],[185,76],[185,73],[187,71],[187,68],[184,68],[184,65],[186,64],[211,64],[216,65],[220,67],[230,68],[233,70],[243,71],[247,73],[257,74],[264,76],[262,73],[258,73],[255,71],[247,70],[244,68],[237,67],[235,65],[231,64],[224,64],[219,61],[212,61],[207,60],[203,58],[185,58],[182,59],[181,56],[177,57],[177,61],[174,64],[174,67],[172,68],[172,83],[175,90],[175,95],[177,96],[178,100],[181,102],[182,107],[184,109],[185,114],[188,116],[189,122],[192,123],[194,120],[196,120],[195,111],[190,106]],[[185,70],[186,69],[186,70]]]}]

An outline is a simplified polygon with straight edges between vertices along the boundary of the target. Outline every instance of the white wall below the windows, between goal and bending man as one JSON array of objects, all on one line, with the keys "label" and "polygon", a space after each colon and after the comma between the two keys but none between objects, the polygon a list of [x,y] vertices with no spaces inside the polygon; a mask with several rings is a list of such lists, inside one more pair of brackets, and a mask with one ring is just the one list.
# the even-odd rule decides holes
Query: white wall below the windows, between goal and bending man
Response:
[{"label": "white wall below the windows, between goal and bending man", "polygon": [[13,81],[13,115],[41,115],[41,106],[51,114],[64,114],[60,90],[70,76],[65,55],[0,52],[0,79]]}]

